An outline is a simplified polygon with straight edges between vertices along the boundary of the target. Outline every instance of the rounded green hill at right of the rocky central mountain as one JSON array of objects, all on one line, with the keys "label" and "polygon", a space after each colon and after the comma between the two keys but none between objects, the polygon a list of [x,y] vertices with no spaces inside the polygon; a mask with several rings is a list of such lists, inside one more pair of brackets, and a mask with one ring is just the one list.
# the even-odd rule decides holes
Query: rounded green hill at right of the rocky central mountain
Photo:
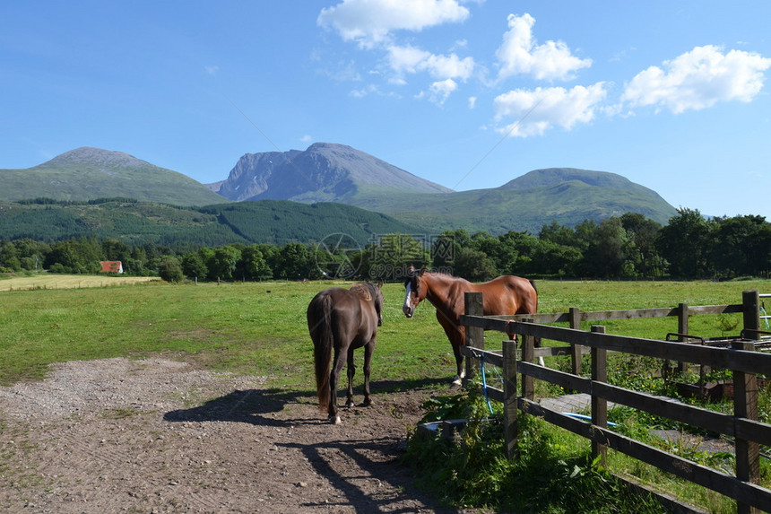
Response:
[{"label": "rounded green hill at right of the rocky central mountain", "polygon": [[360,191],[355,205],[367,205],[429,231],[463,228],[492,234],[537,233],[550,222],[572,227],[628,212],[664,224],[677,213],[653,190],[619,175],[572,169],[534,170],[501,187],[441,196]]}]

